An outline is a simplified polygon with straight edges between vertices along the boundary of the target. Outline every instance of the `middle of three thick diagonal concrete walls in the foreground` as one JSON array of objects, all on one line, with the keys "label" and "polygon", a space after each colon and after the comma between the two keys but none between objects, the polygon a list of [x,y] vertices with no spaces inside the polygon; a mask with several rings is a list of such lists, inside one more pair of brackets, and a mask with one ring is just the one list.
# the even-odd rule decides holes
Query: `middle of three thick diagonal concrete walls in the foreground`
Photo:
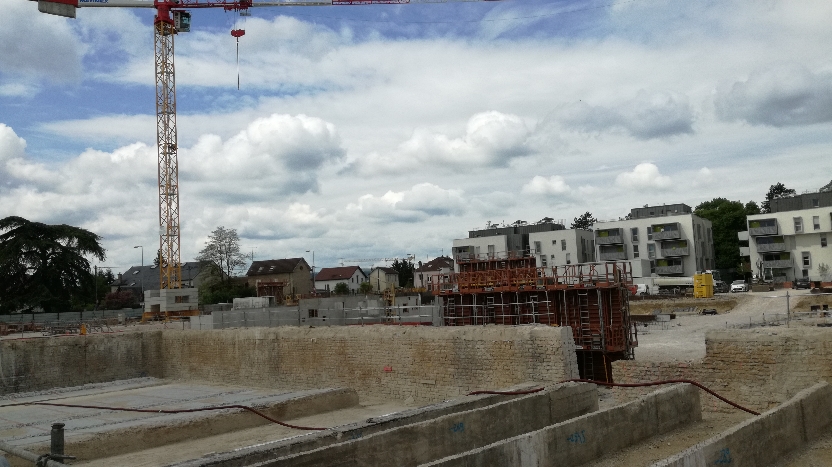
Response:
[{"label": "middle of three thick diagonal concrete walls in the foreground", "polygon": [[676,385],[624,405],[425,465],[576,466],[701,420],[701,417],[699,390],[687,384]]}]

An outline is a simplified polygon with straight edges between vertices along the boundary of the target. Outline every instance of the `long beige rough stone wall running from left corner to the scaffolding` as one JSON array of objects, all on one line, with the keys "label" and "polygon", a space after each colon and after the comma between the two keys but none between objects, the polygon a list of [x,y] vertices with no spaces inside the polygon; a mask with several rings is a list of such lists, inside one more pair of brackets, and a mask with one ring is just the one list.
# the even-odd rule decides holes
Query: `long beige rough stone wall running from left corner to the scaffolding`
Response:
[{"label": "long beige rough stone wall running from left corner to the scaffolding", "polygon": [[249,328],[165,331],[164,377],[261,387],[355,388],[436,401],[578,375],[569,328]]}]

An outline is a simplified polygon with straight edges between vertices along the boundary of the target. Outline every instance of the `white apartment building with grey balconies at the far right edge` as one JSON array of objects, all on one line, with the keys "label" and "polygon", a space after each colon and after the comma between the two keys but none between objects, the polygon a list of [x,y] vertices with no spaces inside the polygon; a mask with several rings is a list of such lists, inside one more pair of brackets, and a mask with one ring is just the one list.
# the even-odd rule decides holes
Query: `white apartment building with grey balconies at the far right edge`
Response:
[{"label": "white apartment building with grey balconies at the far right edge", "polygon": [[[806,195],[803,195],[806,196]],[[832,207],[748,216],[748,253],[758,277],[788,282],[798,277],[829,281],[832,267]],[[820,268],[820,269],[819,269]]]}]

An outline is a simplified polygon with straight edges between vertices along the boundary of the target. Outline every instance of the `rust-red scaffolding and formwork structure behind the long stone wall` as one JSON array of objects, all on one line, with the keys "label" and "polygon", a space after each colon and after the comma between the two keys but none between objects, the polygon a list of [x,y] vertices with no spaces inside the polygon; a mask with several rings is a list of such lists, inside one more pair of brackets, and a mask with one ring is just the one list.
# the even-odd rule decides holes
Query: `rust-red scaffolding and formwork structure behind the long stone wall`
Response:
[{"label": "rust-red scaffolding and formwork structure behind the long stone wall", "polygon": [[611,363],[638,345],[630,323],[632,270],[626,262],[536,267],[522,254],[458,258],[459,272],[439,275],[445,326],[569,326],[581,377],[612,382]]}]

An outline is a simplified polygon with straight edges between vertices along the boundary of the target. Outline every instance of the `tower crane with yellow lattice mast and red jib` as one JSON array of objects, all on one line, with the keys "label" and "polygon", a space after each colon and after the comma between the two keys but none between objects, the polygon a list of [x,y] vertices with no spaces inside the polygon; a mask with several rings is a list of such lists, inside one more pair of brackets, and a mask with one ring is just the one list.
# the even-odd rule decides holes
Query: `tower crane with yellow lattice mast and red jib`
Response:
[{"label": "tower crane with yellow lattice mast and red jib", "polygon": [[[156,148],[159,185],[159,288],[178,289],[182,285],[179,224],[179,149],[176,132],[176,76],[173,64],[173,38],[189,32],[189,9],[222,8],[247,15],[250,8],[269,6],[338,6],[406,3],[446,3],[448,1],[498,0],[32,0],[38,11],[75,18],[78,8],[155,8],[153,36],[156,64]],[[239,41],[241,29],[231,31]],[[238,78],[239,79],[239,78]],[[238,82],[239,86],[239,82]]]}]

